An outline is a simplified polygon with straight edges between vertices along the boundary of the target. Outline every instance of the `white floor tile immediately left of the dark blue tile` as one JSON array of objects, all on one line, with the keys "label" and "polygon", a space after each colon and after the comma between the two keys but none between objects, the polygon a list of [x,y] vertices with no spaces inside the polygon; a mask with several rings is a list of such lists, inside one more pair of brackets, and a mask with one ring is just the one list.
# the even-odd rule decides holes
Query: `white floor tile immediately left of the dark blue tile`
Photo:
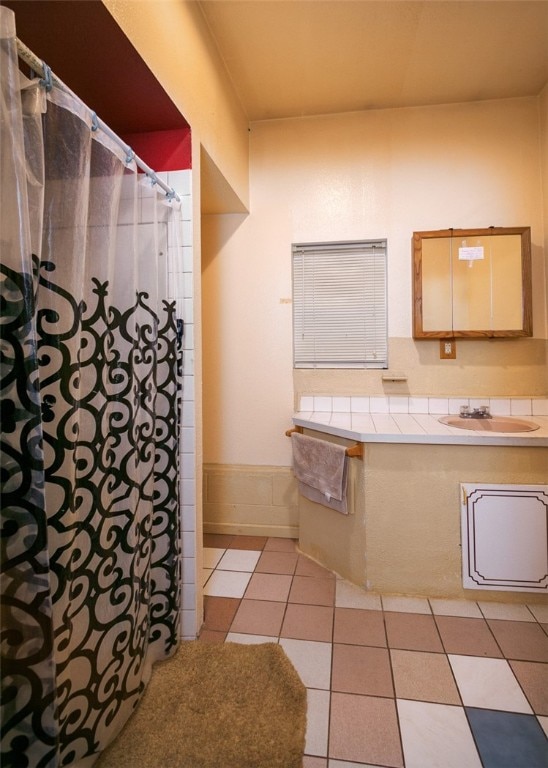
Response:
[{"label": "white floor tile immediately left of the dark blue tile", "polygon": [[462,707],[397,700],[405,768],[481,768]]}]

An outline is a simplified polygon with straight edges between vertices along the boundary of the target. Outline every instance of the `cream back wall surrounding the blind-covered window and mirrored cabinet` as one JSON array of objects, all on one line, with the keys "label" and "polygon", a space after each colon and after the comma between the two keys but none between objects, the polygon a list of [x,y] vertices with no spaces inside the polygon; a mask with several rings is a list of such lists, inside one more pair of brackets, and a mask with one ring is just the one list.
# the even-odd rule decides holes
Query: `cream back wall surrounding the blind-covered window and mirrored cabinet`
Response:
[{"label": "cream back wall surrounding the blind-covered window and mirrored cabinet", "polygon": [[[547,101],[252,124],[250,215],[202,221],[207,462],[288,466],[284,431],[304,392],[546,395]],[[535,337],[459,340],[456,360],[440,361],[438,341],[411,338],[412,232],[490,225],[531,226]],[[388,239],[390,368],[408,382],[383,386],[380,371],[294,374],[291,243],[365,237]]]}]

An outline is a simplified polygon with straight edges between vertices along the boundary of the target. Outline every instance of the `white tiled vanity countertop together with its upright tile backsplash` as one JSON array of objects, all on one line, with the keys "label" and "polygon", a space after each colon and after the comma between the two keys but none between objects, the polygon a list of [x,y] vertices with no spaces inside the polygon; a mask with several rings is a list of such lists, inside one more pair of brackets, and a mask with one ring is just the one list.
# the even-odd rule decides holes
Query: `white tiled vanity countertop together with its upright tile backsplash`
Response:
[{"label": "white tiled vanity countertop together with its upright tile backsplash", "polygon": [[[539,425],[533,432],[476,432],[440,423],[461,405],[488,405],[493,416],[515,416]],[[548,446],[548,399],[303,396],[296,426],[362,443]]]}]

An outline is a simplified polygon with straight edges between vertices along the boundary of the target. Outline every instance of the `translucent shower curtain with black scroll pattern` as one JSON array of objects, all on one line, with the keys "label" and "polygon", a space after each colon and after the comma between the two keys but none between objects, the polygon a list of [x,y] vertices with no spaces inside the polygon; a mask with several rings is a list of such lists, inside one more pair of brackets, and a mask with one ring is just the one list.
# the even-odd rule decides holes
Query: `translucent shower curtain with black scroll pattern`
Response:
[{"label": "translucent shower curtain with black scroll pattern", "polygon": [[88,766],[178,642],[176,204],[0,31],[0,763]]}]

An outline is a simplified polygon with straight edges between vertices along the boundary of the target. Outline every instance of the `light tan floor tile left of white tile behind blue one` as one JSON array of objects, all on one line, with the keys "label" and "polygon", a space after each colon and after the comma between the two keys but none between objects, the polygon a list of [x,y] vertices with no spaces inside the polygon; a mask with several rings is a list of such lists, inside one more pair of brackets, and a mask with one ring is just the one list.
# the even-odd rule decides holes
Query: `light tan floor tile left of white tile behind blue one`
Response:
[{"label": "light tan floor tile left of white tile behind blue one", "polygon": [[451,667],[444,653],[390,651],[398,699],[461,703]]}]

